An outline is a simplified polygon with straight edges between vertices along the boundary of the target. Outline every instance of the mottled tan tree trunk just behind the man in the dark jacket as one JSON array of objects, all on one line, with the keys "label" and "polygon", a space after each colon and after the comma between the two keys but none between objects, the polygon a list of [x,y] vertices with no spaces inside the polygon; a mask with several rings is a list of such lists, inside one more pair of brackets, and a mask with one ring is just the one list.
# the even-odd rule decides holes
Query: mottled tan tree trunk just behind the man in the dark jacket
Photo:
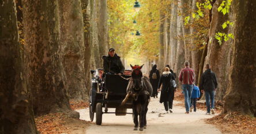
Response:
[{"label": "mottled tan tree trunk just behind the man in the dark jacket", "polygon": [[[231,64],[231,43],[230,41],[220,45],[214,38],[218,32],[228,33],[228,28],[223,29],[222,24],[229,20],[228,16],[223,16],[223,13],[218,12],[222,0],[217,0],[212,9],[212,22],[209,29],[208,53],[205,58],[205,64],[210,64],[212,71],[215,72],[218,81],[216,91],[216,99],[223,99],[228,86],[228,74]],[[230,13],[229,13],[230,14]],[[231,18],[230,18],[231,19]],[[204,69],[205,70],[205,69]]]}]

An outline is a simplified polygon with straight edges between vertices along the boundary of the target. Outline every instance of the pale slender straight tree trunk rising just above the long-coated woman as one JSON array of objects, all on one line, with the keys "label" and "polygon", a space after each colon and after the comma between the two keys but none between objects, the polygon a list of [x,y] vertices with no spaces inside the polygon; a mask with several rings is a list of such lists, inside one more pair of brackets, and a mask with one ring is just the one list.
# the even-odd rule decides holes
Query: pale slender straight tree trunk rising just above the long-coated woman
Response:
[{"label": "pale slender straight tree trunk rising just above the long-coated woman", "polygon": [[171,22],[170,22],[170,59],[171,59],[171,68],[174,69],[176,61],[176,52],[177,52],[177,21],[178,21],[178,2],[173,1],[171,5]]}]

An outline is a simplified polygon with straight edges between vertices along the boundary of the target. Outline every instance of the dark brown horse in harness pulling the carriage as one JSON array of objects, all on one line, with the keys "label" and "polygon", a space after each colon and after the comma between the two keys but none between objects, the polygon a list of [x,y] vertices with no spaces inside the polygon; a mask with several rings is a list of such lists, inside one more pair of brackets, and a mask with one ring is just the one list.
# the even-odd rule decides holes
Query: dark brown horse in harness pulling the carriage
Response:
[{"label": "dark brown horse in harness pulling the carriage", "polygon": [[[131,66],[131,65],[130,65]],[[142,66],[131,66],[131,78],[127,87],[127,95],[123,99],[122,105],[131,97],[133,101],[133,122],[134,130],[138,130],[138,116],[140,121],[140,131],[146,129],[146,113],[148,112],[148,104],[153,88],[149,82],[149,78],[142,75]]]}]

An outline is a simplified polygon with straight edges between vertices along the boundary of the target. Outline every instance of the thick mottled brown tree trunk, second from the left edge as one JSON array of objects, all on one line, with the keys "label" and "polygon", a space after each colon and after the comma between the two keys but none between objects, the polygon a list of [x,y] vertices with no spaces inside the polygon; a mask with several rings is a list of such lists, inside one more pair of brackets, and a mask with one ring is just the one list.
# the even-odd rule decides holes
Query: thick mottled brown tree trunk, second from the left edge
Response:
[{"label": "thick mottled brown tree trunk, second from the left edge", "polygon": [[35,114],[70,110],[59,43],[58,1],[23,1],[28,87]]}]

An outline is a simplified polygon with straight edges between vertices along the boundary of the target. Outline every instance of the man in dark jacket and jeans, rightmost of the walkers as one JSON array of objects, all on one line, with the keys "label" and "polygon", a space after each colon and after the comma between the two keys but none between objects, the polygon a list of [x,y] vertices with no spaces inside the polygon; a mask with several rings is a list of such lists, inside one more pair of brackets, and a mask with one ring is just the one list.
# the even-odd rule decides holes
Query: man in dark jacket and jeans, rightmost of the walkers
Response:
[{"label": "man in dark jacket and jeans, rightmost of the walkers", "polygon": [[210,114],[210,111],[212,114],[214,114],[214,95],[217,89],[217,78],[216,75],[212,70],[210,70],[210,65],[206,64],[206,70],[202,74],[201,77],[201,88],[202,91],[205,92],[205,101],[207,106],[207,113]]}]

